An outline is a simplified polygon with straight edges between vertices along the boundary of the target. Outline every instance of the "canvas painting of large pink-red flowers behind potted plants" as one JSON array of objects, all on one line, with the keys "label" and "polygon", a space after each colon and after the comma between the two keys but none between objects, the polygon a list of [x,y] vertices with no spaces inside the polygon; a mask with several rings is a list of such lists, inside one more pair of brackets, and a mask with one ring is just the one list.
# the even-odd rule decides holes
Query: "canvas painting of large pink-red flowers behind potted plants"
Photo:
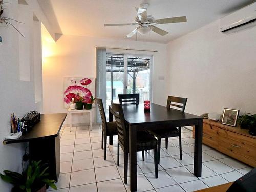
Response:
[{"label": "canvas painting of large pink-red flowers behind potted plants", "polygon": [[91,97],[95,96],[94,78],[64,78],[64,105],[69,108],[72,98],[74,102],[91,103]]}]

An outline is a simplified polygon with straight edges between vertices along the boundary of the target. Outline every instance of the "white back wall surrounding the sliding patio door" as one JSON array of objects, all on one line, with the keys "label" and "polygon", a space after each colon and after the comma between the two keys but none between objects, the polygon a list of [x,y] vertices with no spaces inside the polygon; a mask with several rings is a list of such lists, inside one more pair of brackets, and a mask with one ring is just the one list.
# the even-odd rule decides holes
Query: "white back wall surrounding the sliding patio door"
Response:
[{"label": "white back wall surrounding the sliding patio door", "polygon": [[[44,113],[67,111],[63,106],[64,77],[96,76],[95,45],[158,50],[155,53],[146,52],[144,54],[154,55],[154,102],[165,105],[166,87],[168,86],[166,44],[63,35],[56,43],[52,44],[54,55],[46,58],[46,63],[43,64]],[[120,51],[116,50],[116,52]],[[164,76],[165,80],[158,80],[159,76]],[[85,117],[86,115],[84,117],[80,115],[80,120],[77,117],[77,120],[74,119],[74,123],[85,122],[86,120],[83,120],[86,119]],[[68,123],[65,122],[65,124]]]}]

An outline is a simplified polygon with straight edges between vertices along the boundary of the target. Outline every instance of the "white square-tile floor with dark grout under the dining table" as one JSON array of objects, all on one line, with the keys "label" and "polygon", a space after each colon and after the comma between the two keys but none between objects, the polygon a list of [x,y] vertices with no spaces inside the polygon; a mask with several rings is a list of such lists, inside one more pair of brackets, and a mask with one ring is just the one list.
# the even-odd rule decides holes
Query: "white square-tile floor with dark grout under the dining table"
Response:
[{"label": "white square-tile floor with dark grout under the dining table", "polygon": [[[123,155],[117,166],[117,137],[107,149],[106,160],[101,150],[100,126],[64,127],[60,131],[60,176],[56,192],[130,191],[123,183]],[[161,143],[158,179],[154,173],[153,152],[147,151],[145,161],[137,153],[138,191],[195,191],[234,181],[252,168],[203,145],[202,176],[193,175],[194,139],[191,131],[182,128],[182,153],[179,159],[178,138],[169,138],[166,150]],[[121,149],[121,148],[120,148]],[[120,150],[122,154],[122,150]],[[129,175],[128,175],[129,176]],[[51,189],[49,189],[51,190]]]}]

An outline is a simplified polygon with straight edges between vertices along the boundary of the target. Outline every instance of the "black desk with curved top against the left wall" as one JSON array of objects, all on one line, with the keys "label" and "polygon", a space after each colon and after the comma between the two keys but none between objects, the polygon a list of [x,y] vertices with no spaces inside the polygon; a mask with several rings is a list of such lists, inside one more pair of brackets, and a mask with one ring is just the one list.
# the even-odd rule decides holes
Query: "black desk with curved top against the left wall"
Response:
[{"label": "black desk with curved top against the left wall", "polygon": [[43,163],[49,163],[51,179],[57,181],[60,172],[59,131],[66,116],[66,113],[42,114],[40,121],[30,132],[3,143],[29,142],[30,161],[42,160]]}]

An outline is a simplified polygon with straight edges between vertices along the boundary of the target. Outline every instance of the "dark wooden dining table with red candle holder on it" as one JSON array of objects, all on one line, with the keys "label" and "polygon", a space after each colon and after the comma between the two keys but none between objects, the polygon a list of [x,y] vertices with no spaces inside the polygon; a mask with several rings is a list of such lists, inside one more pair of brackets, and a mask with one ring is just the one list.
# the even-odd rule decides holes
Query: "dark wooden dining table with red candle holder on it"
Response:
[{"label": "dark wooden dining table with red candle holder on it", "polygon": [[[137,132],[161,129],[162,127],[195,126],[194,175],[202,172],[202,127],[203,119],[197,115],[168,109],[158,104],[150,105],[150,112],[144,112],[144,104],[123,105],[124,118],[129,126],[130,153],[130,190],[137,191]],[[109,106],[109,121],[113,121],[113,112]]]}]

